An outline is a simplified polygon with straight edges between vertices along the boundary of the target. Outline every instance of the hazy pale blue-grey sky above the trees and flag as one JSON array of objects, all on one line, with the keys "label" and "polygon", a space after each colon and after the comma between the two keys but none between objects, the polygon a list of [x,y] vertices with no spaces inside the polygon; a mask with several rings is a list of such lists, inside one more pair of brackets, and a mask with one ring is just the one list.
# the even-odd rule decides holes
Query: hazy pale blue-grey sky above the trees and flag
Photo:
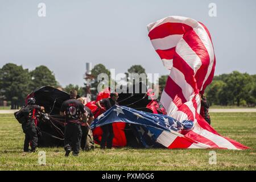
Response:
[{"label": "hazy pale blue-grey sky above the trees and flag", "polygon": [[[46,4],[46,17],[38,4]],[[216,3],[217,17],[208,15]],[[147,24],[170,15],[187,16],[208,27],[216,72],[256,74],[256,1],[64,1],[0,0],[0,67],[30,70],[46,65],[62,86],[82,85],[85,63],[104,64],[116,73],[141,64],[147,73],[168,70],[147,36]]]}]

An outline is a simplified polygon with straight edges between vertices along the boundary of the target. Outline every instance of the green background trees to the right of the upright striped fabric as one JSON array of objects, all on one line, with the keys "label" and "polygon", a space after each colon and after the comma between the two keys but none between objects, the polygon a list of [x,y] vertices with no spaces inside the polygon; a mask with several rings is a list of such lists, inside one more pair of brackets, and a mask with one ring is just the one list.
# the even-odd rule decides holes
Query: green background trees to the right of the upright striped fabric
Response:
[{"label": "green background trees to the right of the upright striped fabric", "polygon": [[[159,88],[162,92],[168,75],[159,78]],[[209,105],[255,106],[256,75],[233,71],[229,74],[214,76],[213,81],[205,89]]]}]

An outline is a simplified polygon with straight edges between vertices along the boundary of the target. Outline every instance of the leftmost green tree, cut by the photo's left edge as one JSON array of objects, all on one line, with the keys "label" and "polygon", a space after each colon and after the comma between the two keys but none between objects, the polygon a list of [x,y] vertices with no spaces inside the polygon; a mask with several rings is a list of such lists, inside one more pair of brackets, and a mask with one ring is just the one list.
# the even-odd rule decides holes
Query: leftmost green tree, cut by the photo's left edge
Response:
[{"label": "leftmost green tree, cut by the photo's left edge", "polygon": [[11,101],[11,109],[18,109],[30,93],[30,74],[28,69],[23,69],[13,63],[3,65],[0,71],[0,92],[7,101]]}]

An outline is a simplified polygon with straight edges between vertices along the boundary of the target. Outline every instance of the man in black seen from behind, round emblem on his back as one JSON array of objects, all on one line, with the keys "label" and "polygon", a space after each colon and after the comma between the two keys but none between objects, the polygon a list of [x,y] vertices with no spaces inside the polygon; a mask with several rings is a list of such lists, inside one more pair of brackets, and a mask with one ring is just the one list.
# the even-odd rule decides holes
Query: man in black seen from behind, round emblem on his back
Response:
[{"label": "man in black seen from behind, round emblem on his back", "polygon": [[60,108],[60,115],[65,115],[66,123],[64,131],[65,156],[69,156],[71,151],[73,151],[74,156],[79,155],[82,137],[82,130],[80,126],[81,115],[85,121],[85,125],[88,126],[84,105],[82,105],[80,101],[76,100],[76,96],[77,91],[71,90],[70,99],[64,101]]}]

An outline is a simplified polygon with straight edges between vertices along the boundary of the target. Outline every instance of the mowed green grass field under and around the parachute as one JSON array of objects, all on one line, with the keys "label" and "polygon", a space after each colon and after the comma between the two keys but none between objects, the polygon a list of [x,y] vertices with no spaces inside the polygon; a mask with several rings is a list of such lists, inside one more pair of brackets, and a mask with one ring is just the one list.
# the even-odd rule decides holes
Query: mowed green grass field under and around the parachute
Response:
[{"label": "mowed green grass field under and around the parachute", "polygon": [[80,152],[64,157],[64,149],[38,148],[46,152],[46,165],[38,164],[38,152],[23,152],[24,134],[13,114],[0,114],[1,170],[255,170],[256,113],[213,113],[218,133],[249,146],[250,150],[216,150],[217,164],[209,164],[212,150],[134,149],[129,147]]}]

